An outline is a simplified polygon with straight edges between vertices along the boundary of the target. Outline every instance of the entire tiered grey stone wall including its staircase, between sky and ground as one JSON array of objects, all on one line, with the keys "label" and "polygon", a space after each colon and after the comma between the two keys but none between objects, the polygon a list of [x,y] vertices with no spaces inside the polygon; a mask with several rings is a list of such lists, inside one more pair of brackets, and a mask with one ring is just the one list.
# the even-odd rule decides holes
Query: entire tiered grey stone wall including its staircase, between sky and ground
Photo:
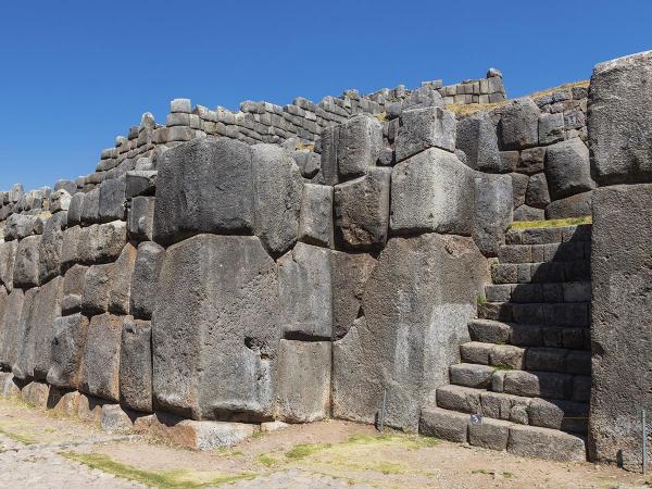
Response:
[{"label": "entire tiered grey stone wall including its staircase, between sky and ground", "polygon": [[385,399],[406,431],[640,464],[650,87],[648,52],[516,100],[493,68],[175,99],[93,173],[0,192],[0,393],[200,449]]}]

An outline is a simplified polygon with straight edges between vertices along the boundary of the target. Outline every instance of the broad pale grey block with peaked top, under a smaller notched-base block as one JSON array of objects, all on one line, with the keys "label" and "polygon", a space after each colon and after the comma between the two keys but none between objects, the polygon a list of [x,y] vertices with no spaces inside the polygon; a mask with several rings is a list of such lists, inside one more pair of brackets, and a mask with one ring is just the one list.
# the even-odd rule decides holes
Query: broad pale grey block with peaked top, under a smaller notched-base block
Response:
[{"label": "broad pale grey block with peaked top, under a smaller notched-base block", "polygon": [[391,230],[471,235],[473,177],[457,156],[437,148],[399,163],[391,175]]}]

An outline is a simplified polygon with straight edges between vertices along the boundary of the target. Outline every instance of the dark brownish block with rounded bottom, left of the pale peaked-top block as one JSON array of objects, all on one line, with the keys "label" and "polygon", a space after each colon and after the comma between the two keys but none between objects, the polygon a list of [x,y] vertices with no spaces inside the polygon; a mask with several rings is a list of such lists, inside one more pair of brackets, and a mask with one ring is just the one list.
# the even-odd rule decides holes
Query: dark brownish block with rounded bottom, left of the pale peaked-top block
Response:
[{"label": "dark brownish block with rounded bottom, left of the pale peaked-top block", "polygon": [[336,238],[351,249],[379,249],[389,230],[391,168],[369,168],[366,175],[335,186]]}]

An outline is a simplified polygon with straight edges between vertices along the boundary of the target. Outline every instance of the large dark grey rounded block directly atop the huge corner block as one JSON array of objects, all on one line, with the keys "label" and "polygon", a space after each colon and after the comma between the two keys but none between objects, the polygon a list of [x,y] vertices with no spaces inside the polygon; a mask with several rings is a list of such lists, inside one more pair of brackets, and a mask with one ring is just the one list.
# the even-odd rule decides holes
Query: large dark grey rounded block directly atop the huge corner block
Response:
[{"label": "large dark grey rounded block directly atop the huge corner block", "polygon": [[166,151],[159,162],[154,239],[251,233],[251,148],[227,138],[196,139]]}]

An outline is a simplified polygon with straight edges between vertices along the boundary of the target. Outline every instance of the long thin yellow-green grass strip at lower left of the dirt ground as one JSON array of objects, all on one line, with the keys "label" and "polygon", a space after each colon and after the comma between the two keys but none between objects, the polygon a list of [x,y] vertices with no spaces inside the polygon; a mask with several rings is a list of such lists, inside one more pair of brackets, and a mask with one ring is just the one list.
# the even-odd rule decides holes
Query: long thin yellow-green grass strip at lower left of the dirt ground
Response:
[{"label": "long thin yellow-green grass strip at lower left of the dirt ground", "polygon": [[143,471],[133,465],[123,464],[115,462],[109,455],[103,453],[74,453],[74,452],[60,452],[60,455],[65,459],[79,462],[90,468],[97,468],[98,471],[112,474],[123,479],[134,480],[136,482],[145,484],[150,487],[160,488],[203,488],[218,486],[221,484],[235,482],[242,479],[251,479],[256,474],[234,474],[234,475],[211,475],[210,477],[203,478],[198,477],[189,471],[162,471],[152,472]]}]

